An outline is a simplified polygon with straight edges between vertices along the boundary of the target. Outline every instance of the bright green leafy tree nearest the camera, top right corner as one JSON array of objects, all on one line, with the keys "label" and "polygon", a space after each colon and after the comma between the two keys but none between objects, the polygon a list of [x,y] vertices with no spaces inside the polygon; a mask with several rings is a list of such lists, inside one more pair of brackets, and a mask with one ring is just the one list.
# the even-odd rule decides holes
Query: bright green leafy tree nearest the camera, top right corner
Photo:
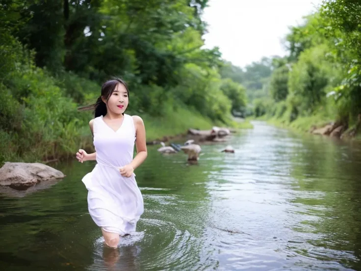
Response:
[{"label": "bright green leafy tree nearest the camera, top right corner", "polygon": [[335,41],[332,53],[343,72],[333,97],[341,117],[354,122],[361,113],[361,3],[326,1],[320,14],[328,22],[326,35]]}]

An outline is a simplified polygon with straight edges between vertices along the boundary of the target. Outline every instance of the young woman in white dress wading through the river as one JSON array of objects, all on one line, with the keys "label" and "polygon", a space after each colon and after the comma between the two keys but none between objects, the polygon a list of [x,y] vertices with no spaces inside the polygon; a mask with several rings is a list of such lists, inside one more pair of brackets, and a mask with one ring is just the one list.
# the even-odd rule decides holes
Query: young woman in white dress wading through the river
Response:
[{"label": "young woman in white dress wading through the river", "polygon": [[[87,154],[80,149],[77,160],[97,161],[82,182],[88,190],[90,216],[101,227],[105,244],[113,248],[118,246],[120,236],[135,231],[144,211],[133,171],[147,158],[145,128],[139,116],[124,113],[128,104],[126,83],[114,79],[103,84],[96,104],[79,108],[95,108],[89,126],[96,152]],[[137,154],[133,159],[134,142]]]}]

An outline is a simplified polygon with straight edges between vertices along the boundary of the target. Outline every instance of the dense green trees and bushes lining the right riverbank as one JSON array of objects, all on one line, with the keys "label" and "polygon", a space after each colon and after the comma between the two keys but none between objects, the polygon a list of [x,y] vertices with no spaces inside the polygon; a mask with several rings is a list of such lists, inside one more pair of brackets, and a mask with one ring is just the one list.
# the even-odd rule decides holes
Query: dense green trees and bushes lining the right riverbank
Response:
[{"label": "dense green trees and bushes lining the right riverbank", "polygon": [[360,126],[361,3],[325,1],[303,25],[290,27],[285,44],[288,55],[273,59],[267,89],[253,103],[254,114],[285,123],[315,117],[349,129]]}]

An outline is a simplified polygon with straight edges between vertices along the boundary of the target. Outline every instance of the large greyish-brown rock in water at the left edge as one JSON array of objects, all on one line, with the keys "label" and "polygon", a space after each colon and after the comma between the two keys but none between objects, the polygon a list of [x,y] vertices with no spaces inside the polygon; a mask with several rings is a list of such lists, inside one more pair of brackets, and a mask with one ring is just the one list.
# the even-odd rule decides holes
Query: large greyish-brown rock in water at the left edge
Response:
[{"label": "large greyish-brown rock in water at the left edge", "polygon": [[0,186],[27,190],[41,182],[64,178],[65,175],[42,163],[5,163],[0,168]]}]

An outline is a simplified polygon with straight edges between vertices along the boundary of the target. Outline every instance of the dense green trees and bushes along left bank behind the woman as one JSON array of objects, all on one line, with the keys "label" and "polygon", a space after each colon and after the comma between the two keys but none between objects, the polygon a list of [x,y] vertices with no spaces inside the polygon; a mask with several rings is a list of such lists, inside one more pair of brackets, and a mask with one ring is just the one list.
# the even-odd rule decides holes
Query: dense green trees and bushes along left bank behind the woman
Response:
[{"label": "dense green trees and bushes along left bank behind the woman", "polygon": [[244,87],[220,75],[217,48],[203,49],[206,4],[2,0],[0,162],[52,159],[89,143],[91,115],[77,107],[112,76],[129,83],[129,110],[146,119],[186,107],[203,123],[229,122],[244,111]]}]

